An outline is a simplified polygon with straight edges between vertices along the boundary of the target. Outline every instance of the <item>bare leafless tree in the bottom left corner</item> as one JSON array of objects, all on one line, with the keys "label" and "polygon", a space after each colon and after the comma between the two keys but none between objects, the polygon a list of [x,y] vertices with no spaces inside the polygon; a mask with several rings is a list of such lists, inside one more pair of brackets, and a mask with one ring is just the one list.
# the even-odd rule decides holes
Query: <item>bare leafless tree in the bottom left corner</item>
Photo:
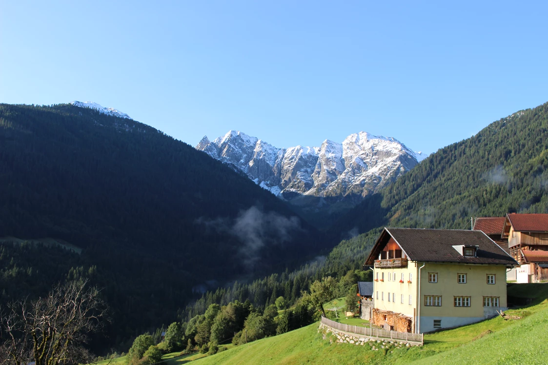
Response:
[{"label": "bare leafless tree in the bottom left corner", "polygon": [[90,353],[87,335],[102,327],[106,305],[87,282],[55,286],[48,296],[0,307],[0,363],[78,364]]}]

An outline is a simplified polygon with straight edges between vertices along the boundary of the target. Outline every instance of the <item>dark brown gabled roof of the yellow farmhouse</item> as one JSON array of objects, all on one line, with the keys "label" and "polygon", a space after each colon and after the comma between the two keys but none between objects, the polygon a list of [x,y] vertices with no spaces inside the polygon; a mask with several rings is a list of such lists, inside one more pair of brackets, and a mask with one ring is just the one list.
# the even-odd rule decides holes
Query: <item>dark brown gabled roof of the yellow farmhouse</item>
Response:
[{"label": "dark brown gabled roof of the yellow farmhouse", "polygon": [[[390,235],[411,261],[431,263],[463,263],[517,265],[482,231],[385,228],[373,247],[366,265],[373,265]],[[453,246],[477,246],[476,256],[463,256]]]}]

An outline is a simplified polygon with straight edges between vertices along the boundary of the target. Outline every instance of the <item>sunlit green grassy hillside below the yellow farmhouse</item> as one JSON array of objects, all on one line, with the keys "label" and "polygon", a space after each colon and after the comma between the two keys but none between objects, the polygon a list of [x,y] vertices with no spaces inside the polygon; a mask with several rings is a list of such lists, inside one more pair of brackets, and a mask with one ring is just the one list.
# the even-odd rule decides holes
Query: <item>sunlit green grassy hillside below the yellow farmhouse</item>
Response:
[{"label": "sunlit green grassy hillside below the yellow farmhouse", "polygon": [[[515,284],[510,295],[535,298],[526,309],[501,317],[425,335],[424,347],[372,351],[369,345],[329,343],[318,323],[195,361],[207,364],[389,364],[389,363],[545,363],[548,348],[548,284]],[[530,335],[534,333],[534,336]]]}]

